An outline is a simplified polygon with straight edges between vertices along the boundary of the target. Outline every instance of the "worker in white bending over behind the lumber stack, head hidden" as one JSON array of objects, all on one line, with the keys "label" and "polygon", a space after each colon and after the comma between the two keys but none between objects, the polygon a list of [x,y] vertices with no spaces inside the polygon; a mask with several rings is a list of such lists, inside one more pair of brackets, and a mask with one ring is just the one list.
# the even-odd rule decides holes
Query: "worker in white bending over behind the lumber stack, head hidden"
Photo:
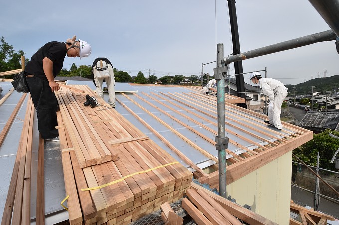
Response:
[{"label": "worker in white bending over behind the lumber stack, head hidden", "polygon": [[96,92],[100,97],[104,97],[103,93],[103,81],[107,84],[108,91],[108,104],[115,108],[115,79],[113,66],[111,62],[106,58],[96,58],[92,65],[92,78],[95,84]]}]

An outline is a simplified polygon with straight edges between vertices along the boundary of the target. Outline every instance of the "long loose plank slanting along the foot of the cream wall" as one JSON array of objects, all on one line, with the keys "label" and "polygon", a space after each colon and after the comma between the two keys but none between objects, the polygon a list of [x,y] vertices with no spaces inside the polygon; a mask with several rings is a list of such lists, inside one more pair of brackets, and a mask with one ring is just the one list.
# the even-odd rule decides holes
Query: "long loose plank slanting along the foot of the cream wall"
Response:
[{"label": "long loose plank slanting along the foot of the cream wall", "polygon": [[208,191],[195,183],[192,183],[191,187],[196,191],[197,190],[205,191],[209,196],[211,196],[215,201],[217,201],[223,208],[225,208],[233,216],[239,218],[240,220],[245,221],[248,224],[277,225],[273,221],[270,221],[267,218],[260,216],[259,214],[256,214],[236,203],[229,201],[228,199],[225,199],[211,191]]}]

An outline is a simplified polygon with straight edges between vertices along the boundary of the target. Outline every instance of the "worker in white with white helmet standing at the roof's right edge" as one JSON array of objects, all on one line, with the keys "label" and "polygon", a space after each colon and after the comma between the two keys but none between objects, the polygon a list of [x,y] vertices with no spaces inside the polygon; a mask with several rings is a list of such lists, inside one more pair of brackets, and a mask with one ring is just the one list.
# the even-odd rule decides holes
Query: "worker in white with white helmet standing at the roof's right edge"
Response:
[{"label": "worker in white with white helmet standing at the roof's right edge", "polygon": [[273,128],[281,130],[283,128],[280,121],[281,105],[287,96],[287,88],[278,80],[261,78],[261,74],[257,71],[251,73],[250,80],[258,84],[261,92],[269,97],[268,121],[264,120],[264,122],[272,125]]}]

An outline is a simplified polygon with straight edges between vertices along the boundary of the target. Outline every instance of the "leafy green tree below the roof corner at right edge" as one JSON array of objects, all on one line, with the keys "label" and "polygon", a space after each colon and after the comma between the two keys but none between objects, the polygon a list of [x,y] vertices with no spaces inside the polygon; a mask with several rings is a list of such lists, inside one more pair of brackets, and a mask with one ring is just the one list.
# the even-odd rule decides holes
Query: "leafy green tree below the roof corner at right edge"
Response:
[{"label": "leafy green tree below the roof corner at right edge", "polygon": [[[334,153],[339,147],[339,139],[331,137],[329,134],[339,137],[338,131],[327,129],[321,133],[314,134],[313,139],[293,150],[293,153],[307,165],[317,166],[317,154],[319,151],[319,167],[335,171],[333,163],[330,163]],[[294,159],[297,161],[297,159]]]}]

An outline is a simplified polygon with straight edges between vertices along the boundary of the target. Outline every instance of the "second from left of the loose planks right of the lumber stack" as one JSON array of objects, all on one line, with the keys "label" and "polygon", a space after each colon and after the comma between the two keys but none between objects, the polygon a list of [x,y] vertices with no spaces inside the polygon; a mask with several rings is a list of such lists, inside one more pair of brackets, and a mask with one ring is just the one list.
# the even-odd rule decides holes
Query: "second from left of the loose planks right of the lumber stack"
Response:
[{"label": "second from left of the loose planks right of the lumber stack", "polygon": [[186,195],[198,207],[198,209],[208,218],[213,225],[230,225],[218,211],[216,211],[204,198],[202,198],[194,189],[188,189]]}]

